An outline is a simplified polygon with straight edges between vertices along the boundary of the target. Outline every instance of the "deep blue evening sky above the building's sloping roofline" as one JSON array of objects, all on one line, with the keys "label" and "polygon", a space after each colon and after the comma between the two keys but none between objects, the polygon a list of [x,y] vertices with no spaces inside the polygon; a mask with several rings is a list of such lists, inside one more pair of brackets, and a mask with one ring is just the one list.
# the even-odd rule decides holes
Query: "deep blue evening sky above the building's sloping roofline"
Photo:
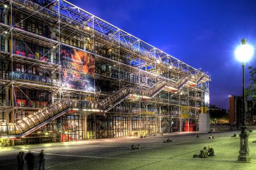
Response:
[{"label": "deep blue evening sky above the building's sloping roofline", "polygon": [[[228,108],[228,96],[242,94],[242,67],[234,58],[234,49],[243,37],[256,48],[256,1],[69,2],[208,71],[212,78],[210,104]],[[248,66],[256,66],[256,55],[246,69]]]}]

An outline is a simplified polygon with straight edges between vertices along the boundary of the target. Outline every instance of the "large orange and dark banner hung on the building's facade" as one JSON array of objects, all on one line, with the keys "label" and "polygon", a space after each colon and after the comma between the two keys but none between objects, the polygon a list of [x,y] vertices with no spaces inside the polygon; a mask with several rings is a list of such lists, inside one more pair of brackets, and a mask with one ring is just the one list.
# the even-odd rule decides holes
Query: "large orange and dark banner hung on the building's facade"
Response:
[{"label": "large orange and dark banner hung on the building's facade", "polygon": [[62,86],[94,91],[95,65],[93,54],[61,46]]}]

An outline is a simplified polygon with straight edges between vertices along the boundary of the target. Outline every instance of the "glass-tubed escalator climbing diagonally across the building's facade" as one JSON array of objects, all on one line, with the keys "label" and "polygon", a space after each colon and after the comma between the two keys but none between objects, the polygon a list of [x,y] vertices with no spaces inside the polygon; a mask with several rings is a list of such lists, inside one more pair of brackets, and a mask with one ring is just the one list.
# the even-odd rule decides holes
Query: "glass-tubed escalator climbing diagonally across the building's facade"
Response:
[{"label": "glass-tubed escalator climbing diagonally across the building's facade", "polygon": [[[183,79],[175,84],[175,87],[184,86],[184,84],[188,81],[188,79]],[[154,86],[148,88],[147,90],[143,90],[140,94],[148,97],[154,97],[160,91],[163,90],[168,84],[164,81],[159,81],[155,83]],[[104,100],[93,102],[88,101],[90,103],[90,111],[101,111],[108,112],[110,109],[115,107],[118,103],[121,103],[131,94],[137,92],[136,90],[129,89],[127,87],[122,88],[121,90],[115,92],[113,95],[106,97]],[[24,137],[36,129],[41,128],[42,126],[48,124],[52,120],[61,115],[73,110],[77,109],[79,100],[72,99],[61,99],[56,101],[56,103],[49,105],[46,108],[40,109],[38,112],[34,114],[30,114],[27,117],[23,117],[21,120],[16,121],[14,123],[2,123],[0,124],[0,137],[1,138],[19,138]],[[80,109],[80,108],[79,108]]]}]

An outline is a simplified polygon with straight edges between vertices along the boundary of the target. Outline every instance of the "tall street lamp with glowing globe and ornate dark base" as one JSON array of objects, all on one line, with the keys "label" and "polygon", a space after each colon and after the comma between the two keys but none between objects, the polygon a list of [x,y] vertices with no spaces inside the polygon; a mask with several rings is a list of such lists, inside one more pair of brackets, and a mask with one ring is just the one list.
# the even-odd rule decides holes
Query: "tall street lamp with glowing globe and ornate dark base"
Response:
[{"label": "tall street lamp with glowing globe and ornate dark base", "polygon": [[246,126],[246,116],[245,116],[245,62],[249,61],[253,57],[254,49],[253,46],[246,44],[246,39],[241,40],[242,45],[240,45],[236,51],[235,55],[238,61],[242,62],[243,69],[243,115],[242,115],[242,126],[240,134],[240,151],[238,156],[238,161],[240,162],[250,162],[251,158],[249,155],[248,148],[248,137],[249,133]]}]

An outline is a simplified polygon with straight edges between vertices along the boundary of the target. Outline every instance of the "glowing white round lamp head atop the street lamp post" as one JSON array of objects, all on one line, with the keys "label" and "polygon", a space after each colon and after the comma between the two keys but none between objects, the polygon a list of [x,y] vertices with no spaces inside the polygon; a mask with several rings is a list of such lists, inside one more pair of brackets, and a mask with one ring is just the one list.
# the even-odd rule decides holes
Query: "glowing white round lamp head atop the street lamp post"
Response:
[{"label": "glowing white round lamp head atop the street lamp post", "polygon": [[242,45],[238,46],[235,51],[235,56],[238,61],[246,62],[253,57],[254,49],[253,46],[246,44],[246,40],[242,39]]}]

